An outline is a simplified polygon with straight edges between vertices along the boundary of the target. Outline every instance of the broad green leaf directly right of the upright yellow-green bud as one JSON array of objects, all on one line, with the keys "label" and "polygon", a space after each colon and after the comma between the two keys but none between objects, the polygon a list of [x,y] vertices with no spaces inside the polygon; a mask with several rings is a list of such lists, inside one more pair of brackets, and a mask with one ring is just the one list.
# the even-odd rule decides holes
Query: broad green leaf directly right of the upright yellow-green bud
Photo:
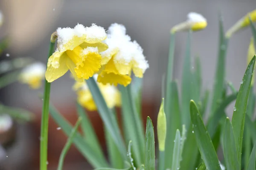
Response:
[{"label": "broad green leaf directly right of the upright yellow-green bud", "polygon": [[[180,103],[179,103],[179,94],[177,89],[177,81],[172,81],[171,86],[171,94],[170,102],[166,103],[172,108],[170,113],[166,113],[166,145],[165,145],[165,169],[171,169],[172,167],[172,154],[173,153],[173,144],[172,142],[175,139],[176,130],[181,128],[180,125]],[[167,96],[166,96],[167,97]],[[165,107],[166,108],[166,107]],[[168,117],[167,117],[168,116]]]}]

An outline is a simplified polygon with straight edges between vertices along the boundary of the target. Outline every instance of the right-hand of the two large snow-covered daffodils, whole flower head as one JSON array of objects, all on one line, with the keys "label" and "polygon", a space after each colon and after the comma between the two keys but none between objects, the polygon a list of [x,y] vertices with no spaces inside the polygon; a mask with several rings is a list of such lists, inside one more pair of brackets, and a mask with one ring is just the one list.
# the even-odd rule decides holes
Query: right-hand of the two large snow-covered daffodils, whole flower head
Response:
[{"label": "right-hand of the two large snow-covered daffodils, whole flower head", "polygon": [[131,71],[136,77],[143,77],[149,67],[148,61],[140,45],[135,40],[131,41],[131,37],[126,34],[125,26],[111,24],[105,42],[108,49],[101,52],[102,70],[98,82],[126,86],[131,83]]}]

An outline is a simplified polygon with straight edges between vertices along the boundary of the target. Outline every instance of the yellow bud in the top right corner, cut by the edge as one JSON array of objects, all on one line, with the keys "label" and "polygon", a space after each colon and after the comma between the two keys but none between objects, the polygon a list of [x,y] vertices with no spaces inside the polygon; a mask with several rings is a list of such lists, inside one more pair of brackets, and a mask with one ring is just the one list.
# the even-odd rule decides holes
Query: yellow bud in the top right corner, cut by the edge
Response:
[{"label": "yellow bud in the top right corner, cut by the edge", "polygon": [[227,31],[226,37],[230,38],[237,31],[241,30],[242,28],[245,28],[245,27],[249,26],[250,25],[250,19],[249,18],[252,20],[252,22],[256,21],[256,9],[251,11],[251,12],[249,12],[247,15],[245,15],[239,21],[237,21],[235,23],[235,25],[232,26]]}]

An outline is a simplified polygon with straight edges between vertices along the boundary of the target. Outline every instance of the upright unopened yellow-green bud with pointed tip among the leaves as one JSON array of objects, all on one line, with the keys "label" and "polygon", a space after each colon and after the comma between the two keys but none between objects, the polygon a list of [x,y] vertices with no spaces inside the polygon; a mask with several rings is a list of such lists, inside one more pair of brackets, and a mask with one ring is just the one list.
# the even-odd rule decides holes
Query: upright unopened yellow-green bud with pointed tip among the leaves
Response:
[{"label": "upright unopened yellow-green bud with pointed tip among the leaves", "polygon": [[166,115],[163,110],[163,100],[157,116],[157,138],[160,151],[164,151],[166,139]]}]

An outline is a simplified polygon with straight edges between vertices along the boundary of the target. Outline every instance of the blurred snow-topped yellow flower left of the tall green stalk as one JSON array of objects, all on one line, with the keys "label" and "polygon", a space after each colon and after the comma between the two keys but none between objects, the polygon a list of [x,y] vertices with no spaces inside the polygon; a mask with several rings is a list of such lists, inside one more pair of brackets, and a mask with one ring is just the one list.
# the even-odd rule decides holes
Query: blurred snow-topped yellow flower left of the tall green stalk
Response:
[{"label": "blurred snow-topped yellow flower left of the tall green stalk", "polygon": [[40,88],[44,79],[46,65],[38,62],[29,65],[20,73],[19,81],[28,84],[31,88]]}]

